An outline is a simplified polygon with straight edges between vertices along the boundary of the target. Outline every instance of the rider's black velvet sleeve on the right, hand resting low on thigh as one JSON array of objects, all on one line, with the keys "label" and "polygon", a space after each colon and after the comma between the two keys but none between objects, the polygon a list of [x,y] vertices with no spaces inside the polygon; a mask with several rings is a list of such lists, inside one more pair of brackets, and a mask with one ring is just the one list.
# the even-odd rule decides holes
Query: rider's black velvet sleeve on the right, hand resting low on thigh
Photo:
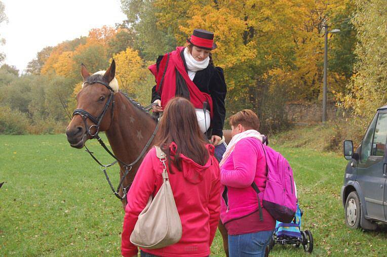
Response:
[{"label": "rider's black velvet sleeve on the right, hand resting low on thigh", "polygon": [[209,88],[214,111],[214,115],[211,120],[212,135],[222,137],[224,119],[226,117],[224,99],[226,98],[227,93],[226,82],[224,80],[222,68],[215,67],[215,72],[211,77]]}]

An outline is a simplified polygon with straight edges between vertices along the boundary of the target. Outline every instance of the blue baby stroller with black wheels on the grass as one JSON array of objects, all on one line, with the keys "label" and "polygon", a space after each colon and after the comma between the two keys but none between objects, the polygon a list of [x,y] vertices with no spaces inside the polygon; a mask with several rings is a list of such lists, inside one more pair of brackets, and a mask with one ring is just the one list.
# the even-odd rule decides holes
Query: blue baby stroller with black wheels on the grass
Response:
[{"label": "blue baby stroller with black wheels on the grass", "polygon": [[272,250],[276,244],[292,244],[300,247],[302,244],[305,251],[313,251],[313,236],[309,230],[301,231],[302,211],[297,203],[297,211],[294,220],[291,223],[281,223],[277,221],[273,237],[268,244],[268,251]]}]

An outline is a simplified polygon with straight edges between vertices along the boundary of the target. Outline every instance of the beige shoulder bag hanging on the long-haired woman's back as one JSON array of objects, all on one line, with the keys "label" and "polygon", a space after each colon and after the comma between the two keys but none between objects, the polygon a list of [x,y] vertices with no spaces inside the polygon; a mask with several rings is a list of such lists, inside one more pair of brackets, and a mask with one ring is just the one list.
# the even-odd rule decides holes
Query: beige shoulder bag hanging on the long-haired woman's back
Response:
[{"label": "beige shoulder bag hanging on the long-haired woman's back", "polygon": [[160,147],[155,147],[157,157],[163,163],[163,185],[153,200],[152,196],[149,197],[130,236],[130,241],[134,245],[144,249],[158,249],[177,243],[182,233],[165,164],[166,154]]}]

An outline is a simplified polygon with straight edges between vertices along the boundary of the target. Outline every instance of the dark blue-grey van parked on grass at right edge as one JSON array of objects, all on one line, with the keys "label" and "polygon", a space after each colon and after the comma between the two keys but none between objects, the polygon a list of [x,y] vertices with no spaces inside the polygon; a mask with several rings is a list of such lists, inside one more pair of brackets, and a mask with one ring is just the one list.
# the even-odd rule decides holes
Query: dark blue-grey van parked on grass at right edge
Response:
[{"label": "dark blue-grey van parked on grass at right edge", "polygon": [[349,160],[341,188],[345,223],[348,227],[376,229],[387,223],[387,105],[377,109],[357,150],[351,140],[343,143]]}]

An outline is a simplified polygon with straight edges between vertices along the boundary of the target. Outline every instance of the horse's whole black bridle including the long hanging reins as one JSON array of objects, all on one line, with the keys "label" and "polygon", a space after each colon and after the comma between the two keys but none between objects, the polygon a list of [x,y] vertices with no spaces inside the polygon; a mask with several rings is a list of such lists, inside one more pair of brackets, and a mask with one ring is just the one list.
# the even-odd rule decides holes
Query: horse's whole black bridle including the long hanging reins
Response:
[{"label": "horse's whole black bridle including the long hanging reins", "polygon": [[[88,84],[94,84],[94,83],[100,83],[100,84],[103,84],[109,91],[110,91],[110,95],[109,97],[107,98],[107,101],[105,103],[105,106],[101,112],[100,115],[98,115],[98,117],[94,117],[92,114],[90,114],[88,111],[84,110],[84,109],[75,109],[72,113],[72,117],[74,117],[75,115],[80,115],[85,123],[85,128],[86,128],[86,132],[87,134],[90,136],[91,139],[96,139],[99,144],[103,147],[103,149],[105,149],[105,151],[110,154],[114,159],[115,161],[113,161],[112,163],[109,163],[109,164],[102,164],[93,154],[92,151],[90,151],[86,144],[85,144],[85,148],[86,148],[86,152],[88,152],[90,154],[90,156],[100,165],[100,169],[103,171],[103,173],[105,174],[105,177],[106,177],[106,180],[107,180],[107,183],[109,184],[111,190],[113,191],[113,194],[115,196],[117,196],[117,198],[119,198],[120,200],[124,199],[126,197],[126,195],[128,194],[128,191],[129,191],[129,188],[131,185],[128,185],[126,187],[123,186],[123,182],[126,178],[126,176],[129,174],[129,172],[132,170],[133,166],[144,156],[146,150],[148,149],[148,147],[150,146],[151,142],[153,141],[154,137],[156,136],[156,133],[158,131],[158,128],[159,128],[159,123],[157,123],[156,125],[156,128],[154,128],[154,131],[153,131],[153,134],[152,136],[150,137],[150,139],[148,140],[148,142],[146,143],[146,145],[144,146],[144,148],[142,149],[140,155],[130,164],[127,164],[126,162],[120,160],[117,156],[115,156],[105,145],[105,143],[103,143],[102,139],[99,137],[98,133],[99,133],[99,127],[101,125],[101,122],[102,122],[102,119],[103,117],[105,116],[106,114],[106,111],[107,109],[109,108],[109,105],[111,103],[111,118],[110,118],[110,124],[113,120],[113,114],[114,114],[114,105],[115,105],[115,102],[114,102],[114,90],[105,82],[103,81],[92,81],[92,82],[89,82],[89,81],[85,81],[83,83],[83,85],[85,83],[88,83]],[[154,103],[153,104],[150,104],[148,106],[146,106],[144,109],[150,109],[153,105],[155,105]],[[86,120],[87,119],[90,119],[94,124],[92,124],[90,127],[88,127],[87,125],[87,122]],[[92,128],[95,127],[95,133],[92,134],[91,130]],[[114,165],[115,163],[121,163],[123,165],[123,167],[125,167],[125,172],[123,173],[122,177],[121,177],[121,180],[120,180],[120,183],[117,187],[117,190],[114,190],[114,187],[113,185],[111,184],[110,182],[110,179],[109,179],[109,176],[107,175],[107,172],[106,172],[106,169],[112,165]],[[121,172],[121,169],[120,169],[120,172]],[[123,192],[123,196],[120,196],[119,194],[119,191],[120,189],[122,189],[122,192]]]}]

